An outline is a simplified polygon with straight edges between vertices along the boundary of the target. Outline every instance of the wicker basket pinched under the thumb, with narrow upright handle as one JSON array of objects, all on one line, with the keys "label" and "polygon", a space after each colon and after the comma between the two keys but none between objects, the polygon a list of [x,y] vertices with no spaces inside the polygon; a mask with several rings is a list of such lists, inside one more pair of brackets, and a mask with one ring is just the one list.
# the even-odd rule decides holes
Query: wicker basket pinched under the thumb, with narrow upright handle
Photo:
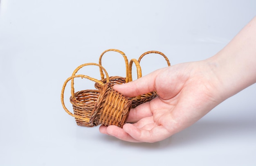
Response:
[{"label": "wicker basket pinched under the thumb, with narrow upright handle", "polygon": [[[130,63],[129,63],[129,82],[132,81],[132,63],[133,62],[135,63],[136,68],[137,68],[137,78],[139,79],[142,76],[141,66],[139,65],[139,61],[137,61],[136,59],[131,59]],[[157,92],[153,91],[153,92],[142,94],[142,95],[139,95],[136,97],[131,97],[131,98],[129,98],[129,100],[131,100],[131,102],[132,102],[132,108],[135,108],[142,103],[146,103],[146,102],[152,100],[156,96],[157,96]]]}]

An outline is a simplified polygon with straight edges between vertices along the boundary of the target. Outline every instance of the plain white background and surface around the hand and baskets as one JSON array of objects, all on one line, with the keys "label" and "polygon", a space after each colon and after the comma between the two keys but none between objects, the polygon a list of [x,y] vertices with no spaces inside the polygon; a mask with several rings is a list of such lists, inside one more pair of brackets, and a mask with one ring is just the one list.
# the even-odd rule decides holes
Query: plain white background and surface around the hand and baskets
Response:
[{"label": "plain white background and surface around the hand and baskets", "polygon": [[[153,144],[79,127],[60,100],[73,70],[98,63],[106,49],[122,50],[129,60],[158,50],[171,65],[198,61],[215,55],[255,15],[255,0],[1,0],[0,165],[255,166],[255,84]],[[166,66],[162,57],[143,61],[143,75]],[[103,66],[125,76],[118,54],[103,57]],[[81,73],[99,79],[97,67]],[[93,87],[86,81],[77,79],[75,90]]]}]

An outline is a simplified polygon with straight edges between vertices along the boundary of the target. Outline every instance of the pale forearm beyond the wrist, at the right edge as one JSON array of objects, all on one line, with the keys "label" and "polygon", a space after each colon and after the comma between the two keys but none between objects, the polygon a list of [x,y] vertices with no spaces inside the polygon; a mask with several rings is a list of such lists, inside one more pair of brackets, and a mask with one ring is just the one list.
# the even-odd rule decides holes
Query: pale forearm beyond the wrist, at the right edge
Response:
[{"label": "pale forearm beyond the wrist, at the right edge", "polygon": [[207,62],[214,66],[223,100],[256,83],[256,17]]}]

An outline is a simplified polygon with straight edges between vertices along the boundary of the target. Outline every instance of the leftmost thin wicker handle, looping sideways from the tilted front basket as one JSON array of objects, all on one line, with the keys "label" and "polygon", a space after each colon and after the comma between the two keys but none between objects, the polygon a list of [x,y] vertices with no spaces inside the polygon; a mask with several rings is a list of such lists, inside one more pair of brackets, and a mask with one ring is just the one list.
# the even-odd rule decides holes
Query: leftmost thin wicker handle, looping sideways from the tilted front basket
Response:
[{"label": "leftmost thin wicker handle, looping sideways from the tilted front basket", "polygon": [[[97,80],[97,79],[94,79],[94,78],[91,78],[90,76],[85,76],[85,75],[74,75],[74,76],[71,76],[69,77],[63,84],[63,87],[62,87],[62,90],[61,90],[61,104],[62,104],[62,107],[64,108],[64,110],[67,112],[67,114],[75,117],[75,118],[79,118],[81,120],[85,120],[86,122],[90,122],[90,118],[84,118],[84,117],[81,117],[81,116],[77,116],[75,114],[72,114],[68,109],[67,107],[65,106],[64,104],[64,91],[65,91],[65,87],[67,85],[67,82],[76,78],[76,77],[81,77],[81,78],[85,78],[85,79],[89,79],[91,81],[94,81],[94,82],[97,82],[99,83],[100,85],[105,85],[103,82]],[[72,94],[72,97],[74,97],[74,93]]]}]

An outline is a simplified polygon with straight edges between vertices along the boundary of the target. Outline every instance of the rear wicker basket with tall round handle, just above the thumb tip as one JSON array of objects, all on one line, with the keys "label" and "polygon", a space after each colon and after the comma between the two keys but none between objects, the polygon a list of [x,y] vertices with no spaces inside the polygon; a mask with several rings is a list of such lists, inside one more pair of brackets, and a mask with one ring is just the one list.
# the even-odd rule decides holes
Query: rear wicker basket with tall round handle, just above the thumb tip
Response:
[{"label": "rear wicker basket with tall round handle, just above the thumb tip", "polygon": [[[124,52],[120,51],[120,50],[117,50],[117,49],[108,49],[108,50],[105,50],[104,52],[101,53],[101,56],[99,57],[99,65],[102,65],[101,64],[101,59],[103,57],[103,55],[108,52],[108,51],[115,51],[115,52],[119,52],[123,57],[124,57],[124,60],[125,60],[125,65],[126,65],[126,77],[122,77],[122,76],[110,76],[109,77],[109,82],[111,85],[115,85],[115,84],[123,84],[123,83],[127,83],[128,82],[128,59],[126,57],[126,55],[124,54]],[[101,73],[101,81],[103,83],[106,83],[106,78],[104,78],[104,74],[103,74],[103,70],[100,68],[100,73]],[[95,83],[94,85],[97,89],[100,89],[101,87],[99,86],[98,83]]]}]

